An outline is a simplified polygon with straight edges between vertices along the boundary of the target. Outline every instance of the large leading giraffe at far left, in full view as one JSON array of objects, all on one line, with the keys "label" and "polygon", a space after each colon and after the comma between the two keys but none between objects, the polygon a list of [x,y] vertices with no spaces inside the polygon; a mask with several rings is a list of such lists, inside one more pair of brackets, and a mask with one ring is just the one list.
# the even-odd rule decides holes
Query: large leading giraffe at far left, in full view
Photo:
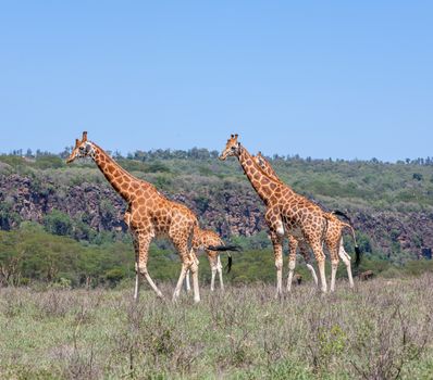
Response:
[{"label": "large leading giraffe at far left, in full view", "polygon": [[[180,293],[186,271],[193,274],[194,301],[200,301],[198,287],[198,259],[191,248],[194,231],[198,228],[196,215],[186,206],[168,200],[157,188],[138,179],[122,168],[95,142],[87,140],[83,132],[82,140],[75,140],[75,147],[66,160],[90,157],[102,172],[114,190],[126,201],[127,210],[124,221],[133,236],[135,250],[135,290],[138,301],[140,277],[145,277],[159,297],[163,297],[147,269],[149,245],[153,238],[169,238],[181,256],[182,269],[173,293],[175,301]],[[214,248],[218,250],[218,246]]]}]

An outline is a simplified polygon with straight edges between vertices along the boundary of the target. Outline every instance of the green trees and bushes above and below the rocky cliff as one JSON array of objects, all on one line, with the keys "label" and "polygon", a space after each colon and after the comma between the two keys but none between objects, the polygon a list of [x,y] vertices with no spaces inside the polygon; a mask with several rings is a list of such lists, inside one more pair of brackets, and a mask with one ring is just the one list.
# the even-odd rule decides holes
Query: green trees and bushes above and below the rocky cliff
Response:
[{"label": "green trees and bushes above and below the rocky cliff", "polygon": [[[55,193],[60,199],[73,185],[86,182],[110,188],[91,162],[67,166],[64,163],[67,153],[69,149],[58,155],[32,151],[3,154],[0,155],[0,175],[26,176],[32,182],[32,191],[41,195]],[[187,194],[205,226],[209,220],[201,219],[201,215],[209,210],[210,200],[216,199],[219,204],[225,205],[226,197],[252,193],[238,163],[235,160],[220,163],[216,151],[156,150],[137,151],[127,156],[119,152],[112,154],[123,167],[154,183],[169,197]],[[375,159],[333,161],[275,155],[271,163],[285,182],[329,210],[433,213],[431,157],[385,163]],[[260,207],[260,202],[256,203]],[[116,218],[109,200],[102,200],[98,206],[102,223]],[[224,208],[216,210],[212,223],[224,226],[227,224],[224,216]],[[53,208],[47,211],[39,223],[33,223],[23,219],[13,208],[13,200],[5,198],[0,204],[0,283],[3,286],[66,281],[73,287],[113,287],[134,276],[129,235],[90,227],[88,215],[72,216]],[[401,249],[399,231],[385,232],[386,251],[362,229],[357,230],[363,252],[360,271],[374,269],[375,275],[392,278],[432,270],[430,261],[419,259],[413,252]],[[244,250],[235,254],[235,265],[227,281],[274,281],[272,249],[264,229],[249,237],[232,235],[225,238]],[[423,237],[411,238],[420,249]],[[345,239],[345,244],[347,252],[352,253],[350,238]],[[152,276],[161,281],[172,279],[178,273],[177,256],[165,242],[152,244],[149,265]],[[305,266],[298,265],[297,270],[309,278]],[[210,274],[206,258],[201,259],[199,271],[201,280],[207,282]],[[345,276],[343,269],[338,275]]]}]

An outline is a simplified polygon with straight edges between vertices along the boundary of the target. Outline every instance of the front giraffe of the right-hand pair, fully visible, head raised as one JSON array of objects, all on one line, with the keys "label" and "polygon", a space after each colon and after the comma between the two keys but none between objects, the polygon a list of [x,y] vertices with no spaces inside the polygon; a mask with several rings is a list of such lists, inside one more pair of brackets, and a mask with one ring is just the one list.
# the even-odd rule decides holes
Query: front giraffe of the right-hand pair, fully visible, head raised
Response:
[{"label": "front giraffe of the right-hand pair, fully visible, head raised", "polygon": [[327,219],[322,210],[311,201],[289,191],[280,181],[269,178],[249,152],[237,141],[237,135],[227,140],[220,160],[236,156],[252,187],[267,206],[264,219],[270,229],[276,267],[276,295],[282,294],[283,238],[285,233],[311,246],[319,266],[321,290],[327,291],[323,254],[323,238]]}]

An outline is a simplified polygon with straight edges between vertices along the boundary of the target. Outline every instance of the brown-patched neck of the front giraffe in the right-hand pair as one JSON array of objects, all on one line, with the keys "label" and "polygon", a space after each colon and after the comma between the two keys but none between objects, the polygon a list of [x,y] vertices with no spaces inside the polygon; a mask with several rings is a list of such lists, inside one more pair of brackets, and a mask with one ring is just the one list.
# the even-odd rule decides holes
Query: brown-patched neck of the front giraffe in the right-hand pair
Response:
[{"label": "brown-patched neck of the front giraffe in the right-hand pair", "polygon": [[281,188],[281,182],[269,178],[244,147],[240,147],[238,160],[256,192],[264,204],[269,205],[275,189]]}]

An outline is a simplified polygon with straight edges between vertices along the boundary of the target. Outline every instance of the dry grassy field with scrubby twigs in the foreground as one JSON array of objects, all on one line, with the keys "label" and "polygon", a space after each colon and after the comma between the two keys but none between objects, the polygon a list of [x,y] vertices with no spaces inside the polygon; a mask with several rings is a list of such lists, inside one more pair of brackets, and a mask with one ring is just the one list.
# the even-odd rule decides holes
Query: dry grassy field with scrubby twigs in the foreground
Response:
[{"label": "dry grassy field with scrubby twigs in the foreground", "polygon": [[[129,284],[128,284],[129,286]],[[146,288],[146,287],[144,287]],[[203,287],[205,288],[205,287]],[[170,300],[172,284],[162,286]],[[0,289],[1,379],[431,379],[433,275],[202,289]]]}]

